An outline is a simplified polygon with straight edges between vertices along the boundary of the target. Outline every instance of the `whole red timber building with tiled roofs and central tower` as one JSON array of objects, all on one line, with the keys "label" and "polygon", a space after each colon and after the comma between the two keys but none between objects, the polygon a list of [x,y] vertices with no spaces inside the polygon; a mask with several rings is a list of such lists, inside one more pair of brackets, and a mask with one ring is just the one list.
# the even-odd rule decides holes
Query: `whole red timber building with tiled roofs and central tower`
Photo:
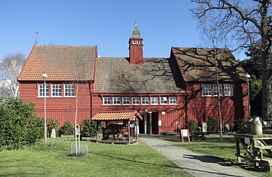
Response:
[{"label": "whole red timber building with tiled roofs and central tower", "polygon": [[78,101],[79,122],[98,112],[135,110],[143,117],[139,133],[174,131],[190,119],[199,125],[208,117],[218,119],[217,94],[223,124],[248,117],[245,72],[228,49],[172,47],[170,58],[143,58],[137,25],[129,39],[129,58],[97,57],[97,47],[34,45],[18,81],[21,98],[33,101],[41,117],[44,71],[47,117],[58,119],[60,126],[74,124]]}]

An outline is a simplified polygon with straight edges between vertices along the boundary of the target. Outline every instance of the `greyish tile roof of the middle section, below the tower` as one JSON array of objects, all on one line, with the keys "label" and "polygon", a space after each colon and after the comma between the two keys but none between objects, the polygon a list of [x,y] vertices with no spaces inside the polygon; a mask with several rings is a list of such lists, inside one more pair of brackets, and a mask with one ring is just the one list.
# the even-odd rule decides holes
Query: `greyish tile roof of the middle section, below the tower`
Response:
[{"label": "greyish tile roof of the middle section, below the tower", "polygon": [[[169,58],[144,58],[144,65],[129,65],[127,58],[97,58],[95,92],[181,93],[182,83]],[[177,77],[176,77],[177,76]]]}]

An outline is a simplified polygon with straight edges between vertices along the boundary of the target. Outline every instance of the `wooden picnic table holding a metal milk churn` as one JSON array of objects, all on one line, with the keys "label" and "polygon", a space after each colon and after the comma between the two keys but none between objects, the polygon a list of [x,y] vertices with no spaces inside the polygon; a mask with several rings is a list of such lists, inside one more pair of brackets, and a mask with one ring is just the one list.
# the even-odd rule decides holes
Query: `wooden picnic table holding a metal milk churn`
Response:
[{"label": "wooden picnic table holding a metal milk churn", "polygon": [[[237,162],[241,162],[241,158],[253,162],[255,167],[267,167],[268,171],[272,171],[272,146],[266,144],[267,140],[272,140],[272,134],[252,135],[249,133],[234,134],[236,142]],[[241,145],[241,146],[240,146]],[[246,151],[245,155],[241,154],[240,147]],[[268,155],[264,158],[263,150]]]}]

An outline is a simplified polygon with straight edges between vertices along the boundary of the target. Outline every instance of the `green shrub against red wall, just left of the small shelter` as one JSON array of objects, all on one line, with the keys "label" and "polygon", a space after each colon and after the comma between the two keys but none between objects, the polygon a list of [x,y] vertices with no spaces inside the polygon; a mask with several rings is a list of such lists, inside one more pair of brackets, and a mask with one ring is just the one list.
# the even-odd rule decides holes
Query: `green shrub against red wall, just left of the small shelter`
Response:
[{"label": "green shrub against red wall, just left of the small shelter", "polygon": [[[96,130],[96,125],[97,122],[96,121],[91,121],[90,119],[83,119],[83,121],[81,121],[81,136],[82,137],[93,137],[96,135],[97,130]],[[101,128],[103,127],[103,122],[101,122],[98,125],[98,131],[101,130]]]}]

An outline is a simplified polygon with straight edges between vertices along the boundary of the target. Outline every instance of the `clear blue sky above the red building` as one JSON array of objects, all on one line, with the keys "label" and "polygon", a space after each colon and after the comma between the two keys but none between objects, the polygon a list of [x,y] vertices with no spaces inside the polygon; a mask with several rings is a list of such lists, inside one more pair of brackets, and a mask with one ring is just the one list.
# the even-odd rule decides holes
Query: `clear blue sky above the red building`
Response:
[{"label": "clear blue sky above the red building", "polygon": [[2,0],[0,60],[27,57],[36,30],[38,44],[97,45],[99,56],[127,57],[134,18],[144,57],[169,57],[171,46],[205,47],[190,8],[184,0]]}]

